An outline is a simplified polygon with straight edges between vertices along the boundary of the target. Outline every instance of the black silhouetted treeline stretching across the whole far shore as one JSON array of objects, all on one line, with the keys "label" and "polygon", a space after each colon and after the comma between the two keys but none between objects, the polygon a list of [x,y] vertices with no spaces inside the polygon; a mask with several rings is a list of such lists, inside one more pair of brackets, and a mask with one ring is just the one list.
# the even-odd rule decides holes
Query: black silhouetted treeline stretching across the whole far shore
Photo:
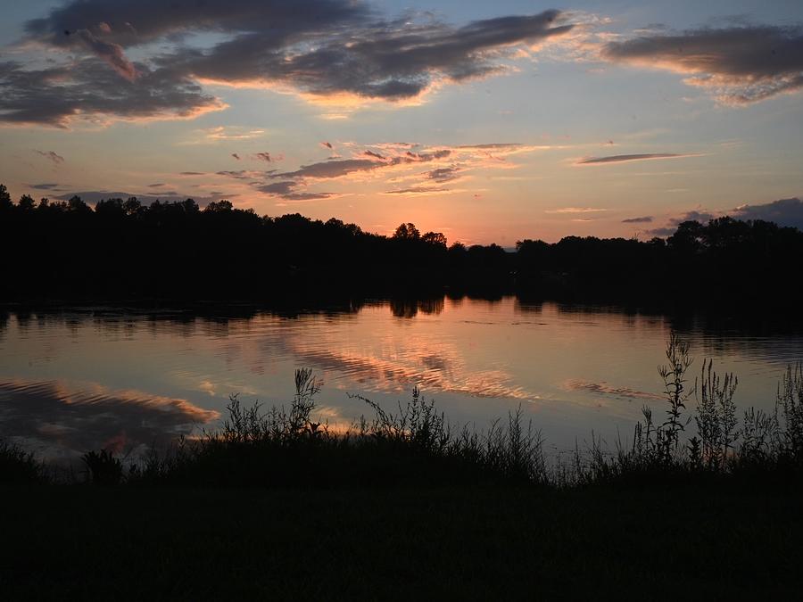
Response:
[{"label": "black silhouetted treeline stretching across the whole far shore", "polygon": [[[568,236],[448,245],[411,223],[393,236],[339,219],[261,217],[211,202],[12,202],[0,185],[0,301],[281,301],[441,293],[743,305],[801,301],[803,233],[766,221],[683,222],[668,239]],[[403,311],[403,309],[400,309]]]}]

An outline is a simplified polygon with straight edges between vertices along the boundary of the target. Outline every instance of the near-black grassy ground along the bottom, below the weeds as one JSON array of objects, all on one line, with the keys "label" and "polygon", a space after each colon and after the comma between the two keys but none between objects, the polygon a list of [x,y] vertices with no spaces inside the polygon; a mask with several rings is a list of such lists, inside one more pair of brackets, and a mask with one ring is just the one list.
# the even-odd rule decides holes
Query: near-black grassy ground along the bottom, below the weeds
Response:
[{"label": "near-black grassy ground along the bottom, below the weeds", "polygon": [[803,496],[0,490],[3,599],[796,599]]}]

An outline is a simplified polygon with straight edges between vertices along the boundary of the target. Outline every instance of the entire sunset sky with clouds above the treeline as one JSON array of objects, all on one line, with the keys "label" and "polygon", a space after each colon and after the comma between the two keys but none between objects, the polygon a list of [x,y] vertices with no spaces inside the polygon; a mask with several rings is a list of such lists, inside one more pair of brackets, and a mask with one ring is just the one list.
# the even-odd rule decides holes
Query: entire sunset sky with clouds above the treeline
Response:
[{"label": "entire sunset sky with clouds above the treeline", "polygon": [[803,3],[0,0],[15,197],[450,243],[803,227]]}]

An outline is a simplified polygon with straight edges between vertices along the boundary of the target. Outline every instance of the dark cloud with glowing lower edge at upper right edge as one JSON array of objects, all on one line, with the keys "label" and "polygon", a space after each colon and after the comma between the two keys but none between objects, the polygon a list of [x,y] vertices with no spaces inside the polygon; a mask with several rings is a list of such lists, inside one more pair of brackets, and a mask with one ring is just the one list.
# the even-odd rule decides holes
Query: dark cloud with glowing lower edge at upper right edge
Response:
[{"label": "dark cloud with glowing lower edge at upper right edge", "polygon": [[602,58],[688,76],[720,103],[757,103],[803,88],[803,28],[745,25],[653,33],[604,45]]}]

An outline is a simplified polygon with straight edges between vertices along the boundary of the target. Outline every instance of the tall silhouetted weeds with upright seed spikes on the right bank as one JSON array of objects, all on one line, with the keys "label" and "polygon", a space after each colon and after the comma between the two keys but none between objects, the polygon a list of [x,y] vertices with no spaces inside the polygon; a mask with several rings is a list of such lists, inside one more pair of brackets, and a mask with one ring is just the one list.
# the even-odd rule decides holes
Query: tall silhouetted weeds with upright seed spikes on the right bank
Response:
[{"label": "tall silhouetted weeds with upright seed spikes on the right bank", "polygon": [[[720,375],[704,359],[700,377],[688,386],[693,363],[690,347],[675,334],[666,343],[668,366],[658,367],[664,382],[666,419],[658,423],[653,410],[642,408],[642,421],[631,443],[617,441],[613,450],[592,436],[585,449],[577,447],[570,466],[559,466],[559,486],[600,483],[699,481],[728,476],[759,476],[803,484],[803,364],[788,367],[778,386],[772,412],[744,411],[740,421],[733,400],[739,380]],[[693,413],[687,404],[697,401]],[[683,439],[686,427],[696,433]]]}]

